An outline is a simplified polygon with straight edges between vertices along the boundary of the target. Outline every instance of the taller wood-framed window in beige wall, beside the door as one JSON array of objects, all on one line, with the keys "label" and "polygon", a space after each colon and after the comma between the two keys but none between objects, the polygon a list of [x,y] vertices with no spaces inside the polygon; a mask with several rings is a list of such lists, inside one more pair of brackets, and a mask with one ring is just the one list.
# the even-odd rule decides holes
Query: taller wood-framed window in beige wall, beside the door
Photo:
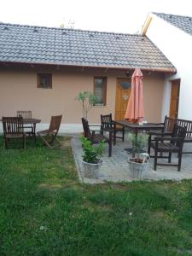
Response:
[{"label": "taller wood-framed window in beige wall, beside the door", "polygon": [[96,105],[106,106],[107,78],[94,78],[94,94],[97,97]]}]

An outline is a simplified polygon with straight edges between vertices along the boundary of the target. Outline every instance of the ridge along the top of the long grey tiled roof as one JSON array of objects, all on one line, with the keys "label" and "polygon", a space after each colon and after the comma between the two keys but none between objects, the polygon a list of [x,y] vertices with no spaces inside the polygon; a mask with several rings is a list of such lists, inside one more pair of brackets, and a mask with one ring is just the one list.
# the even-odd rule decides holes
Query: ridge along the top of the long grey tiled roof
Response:
[{"label": "ridge along the top of the long grey tiled roof", "polygon": [[32,27],[32,28],[39,28],[39,29],[53,29],[53,30],[61,30],[61,31],[75,31],[75,32],[89,32],[89,33],[102,33],[102,34],[113,34],[113,35],[122,35],[122,36],[137,36],[143,37],[140,34],[131,34],[131,33],[123,33],[123,32],[100,32],[100,31],[91,31],[91,30],[84,30],[84,29],[76,29],[76,28],[61,28],[55,26],[35,26],[35,25],[21,25],[21,24],[12,24],[12,23],[3,23],[0,22],[0,26],[24,26],[24,27]]}]

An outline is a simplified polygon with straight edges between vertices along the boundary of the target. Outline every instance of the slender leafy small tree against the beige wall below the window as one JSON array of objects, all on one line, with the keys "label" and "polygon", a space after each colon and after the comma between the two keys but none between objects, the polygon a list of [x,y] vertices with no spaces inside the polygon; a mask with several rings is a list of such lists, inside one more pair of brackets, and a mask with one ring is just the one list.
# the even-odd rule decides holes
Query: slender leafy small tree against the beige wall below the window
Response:
[{"label": "slender leafy small tree against the beige wall below the window", "polygon": [[97,102],[97,97],[90,91],[80,91],[76,100],[81,102],[84,119],[87,119],[88,112]]}]

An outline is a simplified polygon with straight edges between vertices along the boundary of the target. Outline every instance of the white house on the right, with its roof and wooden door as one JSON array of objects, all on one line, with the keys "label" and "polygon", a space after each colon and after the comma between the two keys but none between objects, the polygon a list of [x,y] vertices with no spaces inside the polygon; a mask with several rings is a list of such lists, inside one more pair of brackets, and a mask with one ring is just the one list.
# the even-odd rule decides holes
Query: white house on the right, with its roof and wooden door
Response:
[{"label": "white house on the right, with its roof and wooden door", "polygon": [[177,73],[166,75],[162,117],[192,119],[192,17],[150,13],[142,35],[177,68]]}]

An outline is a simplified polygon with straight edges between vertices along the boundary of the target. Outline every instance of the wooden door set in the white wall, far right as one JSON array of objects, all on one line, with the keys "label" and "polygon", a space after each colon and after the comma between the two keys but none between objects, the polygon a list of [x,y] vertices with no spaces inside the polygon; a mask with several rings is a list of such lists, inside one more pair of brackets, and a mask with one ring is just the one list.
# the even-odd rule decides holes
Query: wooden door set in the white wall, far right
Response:
[{"label": "wooden door set in the white wall, far right", "polygon": [[173,80],[171,98],[170,98],[170,109],[169,109],[169,116],[173,119],[177,119],[177,116],[178,116],[179,89],[180,89],[180,80],[179,79]]}]

